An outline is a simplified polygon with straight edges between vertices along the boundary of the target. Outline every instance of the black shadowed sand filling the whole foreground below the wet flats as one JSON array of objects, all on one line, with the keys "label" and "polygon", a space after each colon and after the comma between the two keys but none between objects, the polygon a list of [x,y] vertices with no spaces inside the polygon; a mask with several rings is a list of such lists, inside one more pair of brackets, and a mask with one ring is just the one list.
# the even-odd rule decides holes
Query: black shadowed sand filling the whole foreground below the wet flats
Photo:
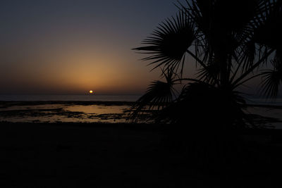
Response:
[{"label": "black shadowed sand filling the whole foreground below the wet flats", "polygon": [[280,131],[217,137],[228,142],[183,135],[161,125],[1,123],[0,187],[282,186]]}]

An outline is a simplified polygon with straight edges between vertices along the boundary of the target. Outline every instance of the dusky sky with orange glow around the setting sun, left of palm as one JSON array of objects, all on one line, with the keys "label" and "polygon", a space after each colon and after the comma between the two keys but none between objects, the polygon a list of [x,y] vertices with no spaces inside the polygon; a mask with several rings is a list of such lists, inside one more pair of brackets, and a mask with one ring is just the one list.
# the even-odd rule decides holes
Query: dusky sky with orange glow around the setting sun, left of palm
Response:
[{"label": "dusky sky with orange glow around the setting sun, left of palm", "polygon": [[159,73],[132,49],[174,0],[1,0],[0,94],[142,94]]}]

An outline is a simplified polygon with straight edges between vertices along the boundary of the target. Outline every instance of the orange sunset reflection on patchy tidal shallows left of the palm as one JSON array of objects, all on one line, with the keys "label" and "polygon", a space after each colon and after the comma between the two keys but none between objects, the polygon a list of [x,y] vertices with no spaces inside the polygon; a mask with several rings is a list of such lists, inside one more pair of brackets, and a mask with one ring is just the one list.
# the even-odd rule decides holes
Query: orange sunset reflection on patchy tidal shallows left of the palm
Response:
[{"label": "orange sunset reflection on patchy tidal shallows left of the palm", "polygon": [[1,106],[0,121],[24,123],[125,123],[130,106],[41,104]]}]

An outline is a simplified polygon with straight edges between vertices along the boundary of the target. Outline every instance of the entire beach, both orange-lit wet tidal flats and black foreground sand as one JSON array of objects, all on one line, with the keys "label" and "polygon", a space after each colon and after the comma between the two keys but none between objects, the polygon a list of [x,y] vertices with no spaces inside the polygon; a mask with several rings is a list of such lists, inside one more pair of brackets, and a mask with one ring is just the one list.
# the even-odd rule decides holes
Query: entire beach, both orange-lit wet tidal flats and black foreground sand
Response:
[{"label": "entire beach, both orange-lit wet tidal flats and black foreground sand", "polygon": [[[230,132],[132,123],[131,101],[2,101],[1,187],[274,187],[281,107]],[[233,182],[232,184],[230,182]]]}]

